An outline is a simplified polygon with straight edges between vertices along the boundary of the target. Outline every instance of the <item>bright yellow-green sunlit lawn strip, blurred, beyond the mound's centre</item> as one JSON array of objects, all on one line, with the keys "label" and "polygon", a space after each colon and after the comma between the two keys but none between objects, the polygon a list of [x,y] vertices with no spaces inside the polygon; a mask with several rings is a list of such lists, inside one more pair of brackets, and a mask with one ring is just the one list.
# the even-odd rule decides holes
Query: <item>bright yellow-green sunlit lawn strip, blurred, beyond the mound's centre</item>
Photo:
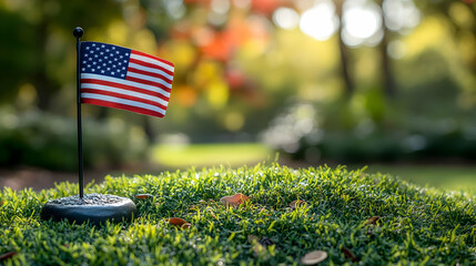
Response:
[{"label": "bright yellow-green sunlit lawn strip, blurred, beyond the mound's centre", "polygon": [[243,165],[270,160],[272,151],[260,143],[161,144],[152,149],[152,162],[162,168],[189,165]]}]

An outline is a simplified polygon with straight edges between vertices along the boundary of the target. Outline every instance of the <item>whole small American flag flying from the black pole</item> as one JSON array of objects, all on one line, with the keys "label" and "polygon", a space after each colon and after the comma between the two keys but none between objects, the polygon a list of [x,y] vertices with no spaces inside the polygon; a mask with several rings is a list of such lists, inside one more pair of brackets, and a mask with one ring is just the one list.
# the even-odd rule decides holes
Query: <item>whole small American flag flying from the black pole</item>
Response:
[{"label": "whole small American flag flying from the black pole", "polygon": [[173,63],[123,47],[81,42],[81,102],[165,115]]}]

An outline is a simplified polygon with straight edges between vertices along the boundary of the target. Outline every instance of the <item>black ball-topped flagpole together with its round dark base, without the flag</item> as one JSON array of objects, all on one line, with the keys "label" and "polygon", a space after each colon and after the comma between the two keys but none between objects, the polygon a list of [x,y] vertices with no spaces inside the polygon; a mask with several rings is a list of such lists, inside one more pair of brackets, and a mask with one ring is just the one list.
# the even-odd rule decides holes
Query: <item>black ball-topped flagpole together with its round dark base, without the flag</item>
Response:
[{"label": "black ball-topped flagpole together with its round dark base, without the flag", "polygon": [[43,221],[68,221],[70,223],[93,225],[130,222],[136,215],[135,204],[126,197],[103,194],[85,194],[82,163],[82,130],[81,130],[81,37],[84,31],[77,27],[73,35],[77,38],[77,86],[78,86],[78,168],[79,195],[51,200],[41,208],[40,217]]}]

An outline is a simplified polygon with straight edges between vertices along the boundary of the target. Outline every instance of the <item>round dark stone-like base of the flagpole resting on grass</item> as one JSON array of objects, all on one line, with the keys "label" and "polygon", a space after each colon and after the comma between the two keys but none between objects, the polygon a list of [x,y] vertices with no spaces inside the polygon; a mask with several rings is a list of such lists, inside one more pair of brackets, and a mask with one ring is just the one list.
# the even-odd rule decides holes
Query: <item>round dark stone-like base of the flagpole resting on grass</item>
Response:
[{"label": "round dark stone-like base of the flagpole resting on grass", "polygon": [[59,222],[67,219],[70,223],[93,225],[130,222],[136,215],[135,204],[126,197],[103,194],[87,194],[82,198],[78,195],[49,201],[41,208],[40,217],[43,221]]}]

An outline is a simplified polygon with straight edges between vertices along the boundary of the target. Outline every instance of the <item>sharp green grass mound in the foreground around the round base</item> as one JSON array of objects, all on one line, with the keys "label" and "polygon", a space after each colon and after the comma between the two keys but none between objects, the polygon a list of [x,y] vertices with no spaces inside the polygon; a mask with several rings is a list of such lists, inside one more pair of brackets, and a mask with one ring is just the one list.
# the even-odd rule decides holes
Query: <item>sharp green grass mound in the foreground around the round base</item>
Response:
[{"label": "sharp green grass mound in the foreground around the round base", "polygon": [[[272,164],[108,176],[88,192],[133,198],[140,217],[101,227],[43,222],[42,204],[77,194],[75,185],[40,193],[6,188],[0,264],[291,265],[313,250],[327,253],[322,265],[476,263],[475,197],[345,167]],[[243,201],[235,206],[220,201],[237,193]]]}]

